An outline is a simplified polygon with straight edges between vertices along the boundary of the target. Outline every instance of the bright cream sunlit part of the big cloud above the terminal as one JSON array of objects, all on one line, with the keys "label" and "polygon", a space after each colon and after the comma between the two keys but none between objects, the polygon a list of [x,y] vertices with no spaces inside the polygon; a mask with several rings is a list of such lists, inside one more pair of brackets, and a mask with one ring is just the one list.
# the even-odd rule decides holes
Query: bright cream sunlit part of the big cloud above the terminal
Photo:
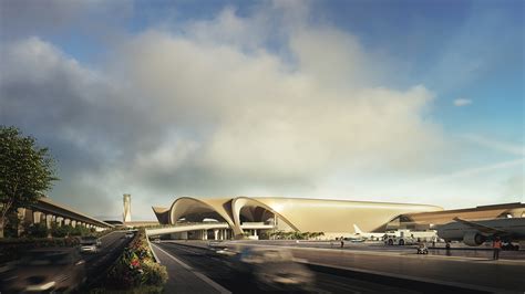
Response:
[{"label": "bright cream sunlit part of the big cloud above the terminal", "polygon": [[422,118],[432,94],[423,86],[356,87],[353,72],[364,53],[337,33],[328,41],[341,65],[328,62],[330,74],[316,61],[321,52],[309,49],[328,41],[309,32],[300,33],[306,43],[292,45],[300,57],[291,65],[260,49],[246,54],[235,45],[147,32],[125,46],[123,72],[132,73],[130,83],[150,96],[157,115],[208,132],[198,158],[212,169],[303,177],[363,156],[406,165],[414,149],[439,144],[439,128]]}]

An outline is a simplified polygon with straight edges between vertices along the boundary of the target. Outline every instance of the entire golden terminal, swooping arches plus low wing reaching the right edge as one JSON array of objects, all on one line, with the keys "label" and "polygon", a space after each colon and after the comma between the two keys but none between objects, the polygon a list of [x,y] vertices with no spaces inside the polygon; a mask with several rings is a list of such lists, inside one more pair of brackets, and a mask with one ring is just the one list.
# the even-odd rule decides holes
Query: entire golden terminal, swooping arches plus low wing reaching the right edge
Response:
[{"label": "entire golden terminal, swooping arches plus low wing reaching the right edge", "polygon": [[[169,208],[153,207],[161,224],[181,227],[175,239],[234,239],[268,231],[323,232],[326,238],[363,231],[429,230],[453,218],[523,217],[525,204],[507,203],[459,210],[431,204],[282,197],[181,197]],[[196,225],[189,230],[188,225]],[[184,230],[188,228],[188,230]],[[197,229],[198,228],[198,229]]]}]

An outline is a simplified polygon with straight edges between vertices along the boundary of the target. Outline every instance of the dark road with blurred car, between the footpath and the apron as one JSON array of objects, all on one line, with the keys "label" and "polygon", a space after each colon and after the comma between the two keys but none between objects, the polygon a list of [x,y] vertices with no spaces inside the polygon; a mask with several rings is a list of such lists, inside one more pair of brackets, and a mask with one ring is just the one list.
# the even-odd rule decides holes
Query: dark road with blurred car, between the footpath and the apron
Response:
[{"label": "dark road with blurred car, between the footpath and the apron", "polygon": [[[155,251],[163,253],[158,249],[189,265],[194,272],[204,274],[206,277],[216,282],[224,288],[233,293],[257,293],[256,282],[249,275],[243,274],[235,265],[233,259],[218,255],[213,251],[198,246],[181,243],[163,242],[154,245]],[[161,262],[165,264],[164,256],[159,256]],[[164,261],[163,261],[164,259]],[[166,264],[165,264],[166,265]],[[338,273],[326,271],[322,266],[309,266],[316,276],[317,293],[421,293],[402,286],[391,286],[360,279],[352,279]],[[172,279],[177,272],[172,272],[168,266],[168,275]],[[198,283],[192,281],[182,281],[185,283]],[[203,283],[203,281],[200,281]],[[166,288],[166,293],[171,293]],[[218,291],[216,291],[218,292]],[[260,291],[259,291],[260,292]]]}]

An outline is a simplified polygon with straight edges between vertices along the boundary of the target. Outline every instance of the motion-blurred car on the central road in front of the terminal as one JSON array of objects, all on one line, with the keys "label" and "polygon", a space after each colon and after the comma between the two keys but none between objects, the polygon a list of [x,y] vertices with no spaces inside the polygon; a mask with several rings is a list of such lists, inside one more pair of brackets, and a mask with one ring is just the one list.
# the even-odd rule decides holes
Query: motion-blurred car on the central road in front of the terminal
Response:
[{"label": "motion-blurred car on the central road in front of the terminal", "polygon": [[286,249],[246,248],[237,255],[236,265],[262,291],[315,291],[313,273]]}]

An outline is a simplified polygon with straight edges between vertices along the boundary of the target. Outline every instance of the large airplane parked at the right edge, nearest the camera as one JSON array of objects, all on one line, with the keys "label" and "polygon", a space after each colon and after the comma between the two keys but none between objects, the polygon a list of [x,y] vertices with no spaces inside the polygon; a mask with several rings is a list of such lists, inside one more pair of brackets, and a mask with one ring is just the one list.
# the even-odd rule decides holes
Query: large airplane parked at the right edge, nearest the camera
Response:
[{"label": "large airplane parked at the right edge, nearest the camera", "polygon": [[437,235],[445,241],[463,241],[470,246],[478,246],[485,241],[500,238],[506,242],[525,240],[525,218],[491,219],[466,221],[454,218],[437,227]]}]

